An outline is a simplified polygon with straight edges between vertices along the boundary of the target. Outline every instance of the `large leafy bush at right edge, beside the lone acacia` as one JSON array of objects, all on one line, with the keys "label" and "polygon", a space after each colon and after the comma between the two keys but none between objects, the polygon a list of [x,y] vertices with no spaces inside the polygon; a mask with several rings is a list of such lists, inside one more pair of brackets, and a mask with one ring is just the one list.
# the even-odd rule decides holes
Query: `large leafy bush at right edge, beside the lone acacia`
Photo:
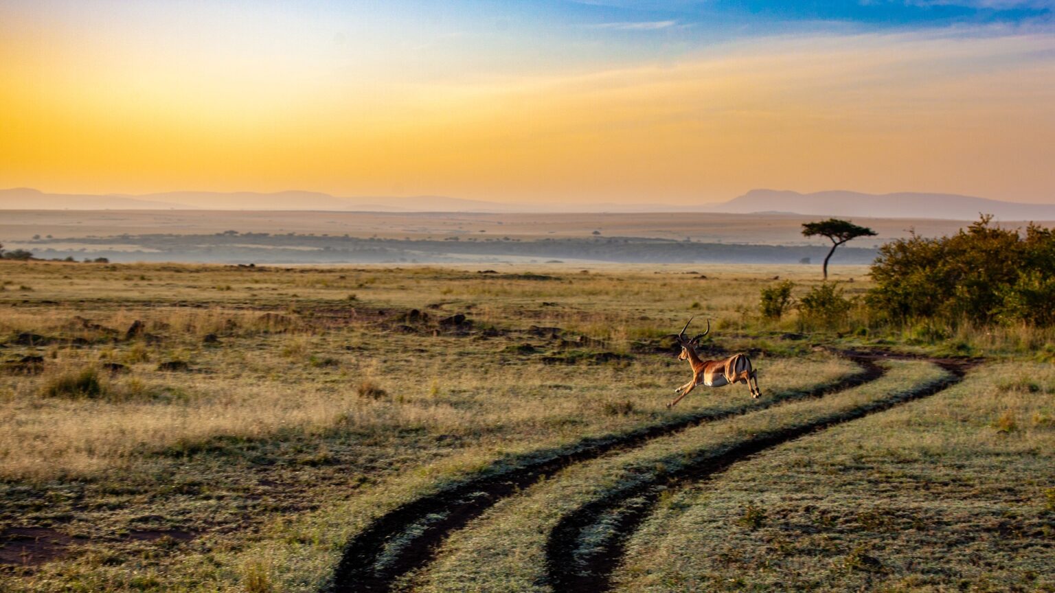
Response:
[{"label": "large leafy bush at right edge, beside the lone acacia", "polygon": [[880,247],[869,307],[901,323],[1055,323],[1055,233],[1030,224],[1022,235],[991,221],[982,216],[953,236],[914,234]]}]

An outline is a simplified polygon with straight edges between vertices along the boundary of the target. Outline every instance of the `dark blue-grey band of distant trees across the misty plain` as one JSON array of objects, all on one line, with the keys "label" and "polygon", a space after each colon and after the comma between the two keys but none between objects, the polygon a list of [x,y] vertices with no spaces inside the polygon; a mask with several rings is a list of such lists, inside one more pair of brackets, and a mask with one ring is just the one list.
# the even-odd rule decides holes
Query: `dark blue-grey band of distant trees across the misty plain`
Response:
[{"label": "dark blue-grey band of distant trees across the misty plain", "polygon": [[[76,243],[83,249],[53,249],[49,244]],[[581,237],[520,241],[510,237],[410,240],[315,234],[237,233],[141,234],[106,237],[44,238],[33,242],[40,257],[109,257],[114,262],[184,261],[229,263],[398,263],[495,261],[504,257],[590,260],[613,263],[745,263],[794,264],[820,262],[823,246],[738,245],[642,237]],[[133,250],[113,250],[120,244]],[[92,249],[99,245],[99,249]],[[877,250],[844,248],[835,262],[868,264]]]}]

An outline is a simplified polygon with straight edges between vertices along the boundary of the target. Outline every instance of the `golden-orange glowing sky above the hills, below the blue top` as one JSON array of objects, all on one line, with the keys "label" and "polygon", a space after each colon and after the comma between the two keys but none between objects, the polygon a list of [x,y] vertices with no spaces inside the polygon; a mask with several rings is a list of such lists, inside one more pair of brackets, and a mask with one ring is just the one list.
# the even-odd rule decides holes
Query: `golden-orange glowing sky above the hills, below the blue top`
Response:
[{"label": "golden-orange glowing sky above the hills, below the blue top", "polygon": [[406,15],[217,5],[0,0],[0,188],[690,204],[770,187],[1055,202],[1044,28],[591,46],[677,21],[614,22],[540,37],[550,54],[536,55],[524,38],[539,23],[474,36],[472,21],[417,15],[395,36]]}]

